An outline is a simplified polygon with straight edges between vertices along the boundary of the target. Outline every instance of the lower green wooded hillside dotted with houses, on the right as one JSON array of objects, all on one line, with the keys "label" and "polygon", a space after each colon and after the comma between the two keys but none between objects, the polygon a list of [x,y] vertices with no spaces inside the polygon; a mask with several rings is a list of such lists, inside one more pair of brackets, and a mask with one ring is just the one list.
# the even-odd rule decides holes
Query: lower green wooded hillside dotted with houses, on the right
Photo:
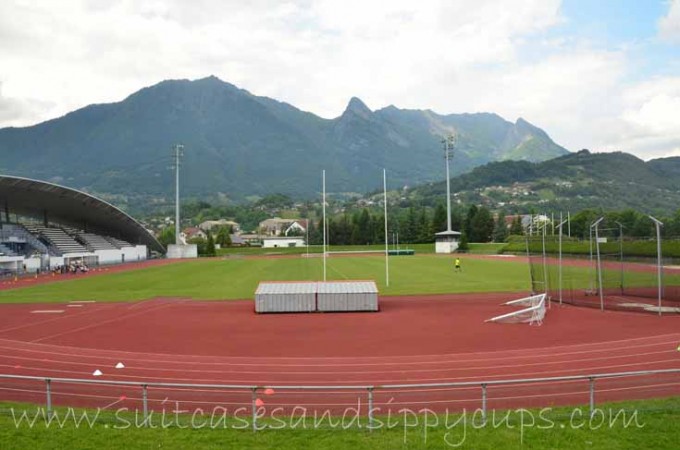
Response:
[{"label": "lower green wooded hillside dotted with houses, on the right", "polygon": [[[540,163],[493,162],[451,180],[457,202],[494,209],[605,210],[632,208],[664,213],[680,205],[680,158],[645,162],[626,153],[582,150]],[[416,203],[434,205],[445,198],[445,183],[418,186]]]}]

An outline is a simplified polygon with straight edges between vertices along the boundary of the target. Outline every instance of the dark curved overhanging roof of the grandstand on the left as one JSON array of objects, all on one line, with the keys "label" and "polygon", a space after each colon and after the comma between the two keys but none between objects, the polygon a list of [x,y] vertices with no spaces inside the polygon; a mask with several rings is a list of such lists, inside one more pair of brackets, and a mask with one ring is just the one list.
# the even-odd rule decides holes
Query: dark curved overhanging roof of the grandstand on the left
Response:
[{"label": "dark curved overhanging roof of the grandstand on the left", "polygon": [[125,212],[76,189],[29,178],[0,175],[0,218],[5,211],[108,235],[164,252],[144,226]]}]

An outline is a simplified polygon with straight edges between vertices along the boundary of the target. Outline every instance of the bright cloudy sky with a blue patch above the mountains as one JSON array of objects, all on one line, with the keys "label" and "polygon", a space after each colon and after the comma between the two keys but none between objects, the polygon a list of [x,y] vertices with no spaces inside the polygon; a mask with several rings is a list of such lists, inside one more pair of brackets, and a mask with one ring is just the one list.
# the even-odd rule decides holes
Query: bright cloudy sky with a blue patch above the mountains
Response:
[{"label": "bright cloudy sky with a blue patch above the mountains", "polygon": [[357,96],[680,156],[680,0],[0,2],[0,127],[208,75],[327,118]]}]

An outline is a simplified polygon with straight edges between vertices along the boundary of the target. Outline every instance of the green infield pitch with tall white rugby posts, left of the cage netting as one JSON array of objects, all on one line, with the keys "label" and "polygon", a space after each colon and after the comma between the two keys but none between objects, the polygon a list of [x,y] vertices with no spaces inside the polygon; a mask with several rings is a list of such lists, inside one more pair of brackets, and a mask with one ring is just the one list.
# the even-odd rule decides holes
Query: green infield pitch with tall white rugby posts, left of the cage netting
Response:
[{"label": "green infield pitch with tall white rugby posts, left of the cage netting", "polygon": [[[385,286],[382,256],[334,257],[327,261],[328,280],[375,280],[383,295],[528,291],[526,263],[463,259],[463,272],[453,272],[453,259],[434,255],[390,258],[390,285]],[[0,291],[0,303],[68,300],[126,301],[153,297],[201,300],[251,299],[263,280],[321,280],[321,257],[224,258],[149,267]]]}]

